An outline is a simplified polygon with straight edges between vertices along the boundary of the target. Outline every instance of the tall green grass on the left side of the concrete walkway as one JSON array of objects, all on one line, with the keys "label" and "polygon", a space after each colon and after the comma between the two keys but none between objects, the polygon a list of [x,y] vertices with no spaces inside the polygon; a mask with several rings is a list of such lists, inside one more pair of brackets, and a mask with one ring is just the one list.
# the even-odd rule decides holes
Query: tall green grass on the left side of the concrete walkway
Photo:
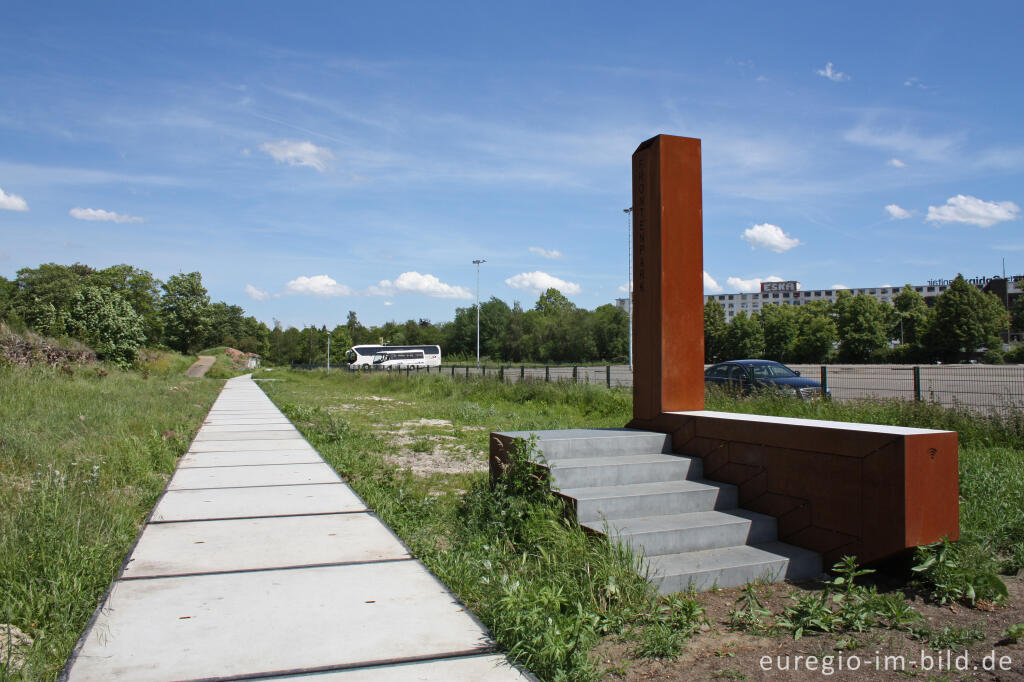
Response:
[{"label": "tall green grass on the left side of the concrete walkway", "polygon": [[0,367],[0,623],[34,640],[0,678],[60,670],[219,390],[190,363]]}]

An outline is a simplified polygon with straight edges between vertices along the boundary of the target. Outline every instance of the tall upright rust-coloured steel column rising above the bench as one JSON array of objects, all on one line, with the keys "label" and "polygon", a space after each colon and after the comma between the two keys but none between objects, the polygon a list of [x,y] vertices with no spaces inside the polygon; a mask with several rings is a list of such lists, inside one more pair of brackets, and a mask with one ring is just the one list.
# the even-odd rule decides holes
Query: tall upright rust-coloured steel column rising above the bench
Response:
[{"label": "tall upright rust-coloured steel column rising above the bench", "polygon": [[633,418],[703,409],[700,140],[633,153]]}]

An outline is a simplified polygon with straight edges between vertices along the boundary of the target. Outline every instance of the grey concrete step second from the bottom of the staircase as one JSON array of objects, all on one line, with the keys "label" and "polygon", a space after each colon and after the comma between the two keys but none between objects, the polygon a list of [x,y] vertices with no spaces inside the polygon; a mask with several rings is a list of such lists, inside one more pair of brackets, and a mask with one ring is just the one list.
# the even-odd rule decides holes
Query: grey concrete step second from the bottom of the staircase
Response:
[{"label": "grey concrete step second from the bottom of the staircase", "polygon": [[743,509],[664,514],[584,523],[645,556],[678,554],[736,545],[756,545],[777,538],[773,516]]}]

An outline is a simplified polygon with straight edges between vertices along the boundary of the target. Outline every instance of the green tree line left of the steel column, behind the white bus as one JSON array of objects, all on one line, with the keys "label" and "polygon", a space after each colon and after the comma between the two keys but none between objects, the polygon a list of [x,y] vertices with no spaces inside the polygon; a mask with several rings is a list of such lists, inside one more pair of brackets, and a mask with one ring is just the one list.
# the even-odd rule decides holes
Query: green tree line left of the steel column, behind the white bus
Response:
[{"label": "green tree line left of the steel column, behind the white bus", "polygon": [[[476,354],[476,307],[458,308],[451,322],[429,319],[362,325],[354,311],[344,324],[303,329],[272,328],[238,305],[211,302],[200,272],[179,272],[163,282],[148,270],[122,264],[93,268],[82,263],[25,267],[12,280],[0,276],[0,319],[51,337],[89,345],[105,360],[131,364],[139,348],[167,347],[182,353],[230,346],[258,353],[273,365],[345,361],[355,344],[441,346],[446,358]],[[628,356],[628,316],[607,304],[578,307],[555,289],[523,310],[499,298],[480,305],[480,353],[493,361],[623,363]]]}]

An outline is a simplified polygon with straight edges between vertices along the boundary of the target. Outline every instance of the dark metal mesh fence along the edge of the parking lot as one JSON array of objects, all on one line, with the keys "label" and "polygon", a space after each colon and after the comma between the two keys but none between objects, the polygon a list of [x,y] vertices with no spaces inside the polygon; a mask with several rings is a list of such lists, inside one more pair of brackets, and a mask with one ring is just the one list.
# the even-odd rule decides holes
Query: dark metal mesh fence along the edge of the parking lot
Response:
[{"label": "dark metal mesh fence along the edge of the parking lot", "polygon": [[[792,365],[802,376],[820,381],[836,400],[898,398],[947,408],[1009,413],[1024,410],[1024,366],[1020,365]],[[506,367],[444,366],[396,371],[402,375],[439,374],[520,381],[578,382],[631,388],[628,365]]]}]

